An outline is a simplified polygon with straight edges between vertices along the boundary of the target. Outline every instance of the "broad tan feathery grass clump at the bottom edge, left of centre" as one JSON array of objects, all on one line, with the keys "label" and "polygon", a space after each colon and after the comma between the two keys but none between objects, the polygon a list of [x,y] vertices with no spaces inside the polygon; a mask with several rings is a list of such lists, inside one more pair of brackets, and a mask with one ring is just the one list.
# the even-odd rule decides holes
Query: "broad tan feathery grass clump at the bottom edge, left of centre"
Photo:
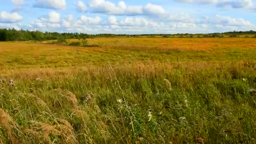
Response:
[{"label": "broad tan feathery grass clump at the bottom edge, left of centre", "polygon": [[30,133],[34,136],[40,137],[43,135],[43,138],[48,142],[52,143],[51,136],[63,136],[64,140],[67,143],[77,143],[75,136],[74,136],[74,129],[72,125],[67,122],[67,120],[58,119],[60,123],[63,124],[56,124],[50,125],[48,123],[42,123],[37,121],[32,121],[33,128],[27,129],[25,132]]}]

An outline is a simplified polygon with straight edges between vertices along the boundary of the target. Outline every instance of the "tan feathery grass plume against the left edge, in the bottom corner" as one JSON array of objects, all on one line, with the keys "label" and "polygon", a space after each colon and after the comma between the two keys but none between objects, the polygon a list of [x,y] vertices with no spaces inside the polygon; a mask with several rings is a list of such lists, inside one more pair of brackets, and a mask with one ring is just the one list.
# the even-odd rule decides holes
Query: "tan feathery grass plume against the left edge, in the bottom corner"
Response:
[{"label": "tan feathery grass plume against the left edge, in the bottom corner", "polygon": [[16,139],[11,133],[11,125],[13,123],[13,119],[10,115],[8,115],[3,109],[0,108],[0,126],[6,129],[8,136],[11,139],[13,144],[16,144]]}]

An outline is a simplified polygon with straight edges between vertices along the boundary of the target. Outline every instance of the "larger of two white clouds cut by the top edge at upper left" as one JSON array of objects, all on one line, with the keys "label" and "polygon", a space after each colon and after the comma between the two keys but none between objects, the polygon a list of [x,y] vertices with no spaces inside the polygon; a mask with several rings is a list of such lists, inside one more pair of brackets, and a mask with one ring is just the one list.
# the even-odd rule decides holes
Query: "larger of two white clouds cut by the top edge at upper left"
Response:
[{"label": "larger of two white clouds cut by the top edge at upper left", "polygon": [[50,8],[50,9],[65,9],[66,0],[36,0],[34,7]]}]

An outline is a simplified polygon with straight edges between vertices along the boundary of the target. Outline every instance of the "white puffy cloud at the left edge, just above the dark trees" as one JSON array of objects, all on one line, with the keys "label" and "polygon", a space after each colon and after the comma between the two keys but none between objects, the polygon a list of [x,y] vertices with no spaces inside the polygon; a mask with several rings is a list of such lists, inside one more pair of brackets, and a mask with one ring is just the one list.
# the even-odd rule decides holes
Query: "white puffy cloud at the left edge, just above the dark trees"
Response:
[{"label": "white puffy cloud at the left edge, just above the dark trees", "polygon": [[15,23],[21,21],[23,17],[19,13],[8,13],[6,11],[0,12],[0,22],[3,23]]}]

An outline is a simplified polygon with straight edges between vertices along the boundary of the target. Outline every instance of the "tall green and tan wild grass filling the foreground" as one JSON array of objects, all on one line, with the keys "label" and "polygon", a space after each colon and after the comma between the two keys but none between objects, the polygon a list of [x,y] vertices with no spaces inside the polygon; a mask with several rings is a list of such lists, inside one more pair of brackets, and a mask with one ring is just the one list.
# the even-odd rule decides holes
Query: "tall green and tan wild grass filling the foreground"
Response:
[{"label": "tall green and tan wild grass filling the foreground", "polygon": [[[255,143],[255,64],[5,72],[0,141]],[[14,85],[8,85],[12,79]]]}]

